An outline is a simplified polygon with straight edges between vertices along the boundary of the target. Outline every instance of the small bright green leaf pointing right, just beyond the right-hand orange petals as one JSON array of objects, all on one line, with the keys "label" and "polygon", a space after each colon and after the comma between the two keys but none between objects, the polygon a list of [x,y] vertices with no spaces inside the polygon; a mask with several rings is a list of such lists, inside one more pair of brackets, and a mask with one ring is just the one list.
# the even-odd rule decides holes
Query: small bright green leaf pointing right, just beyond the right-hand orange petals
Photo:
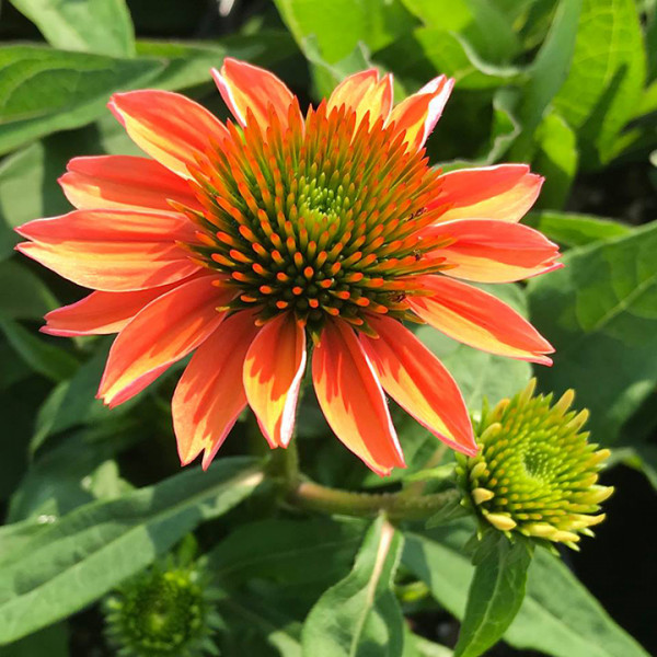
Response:
[{"label": "small bright green leaf pointing right, just beyond the right-hand orange petals", "polygon": [[525,223],[564,246],[585,246],[599,240],[629,235],[632,229],[613,219],[576,212],[531,212]]}]

